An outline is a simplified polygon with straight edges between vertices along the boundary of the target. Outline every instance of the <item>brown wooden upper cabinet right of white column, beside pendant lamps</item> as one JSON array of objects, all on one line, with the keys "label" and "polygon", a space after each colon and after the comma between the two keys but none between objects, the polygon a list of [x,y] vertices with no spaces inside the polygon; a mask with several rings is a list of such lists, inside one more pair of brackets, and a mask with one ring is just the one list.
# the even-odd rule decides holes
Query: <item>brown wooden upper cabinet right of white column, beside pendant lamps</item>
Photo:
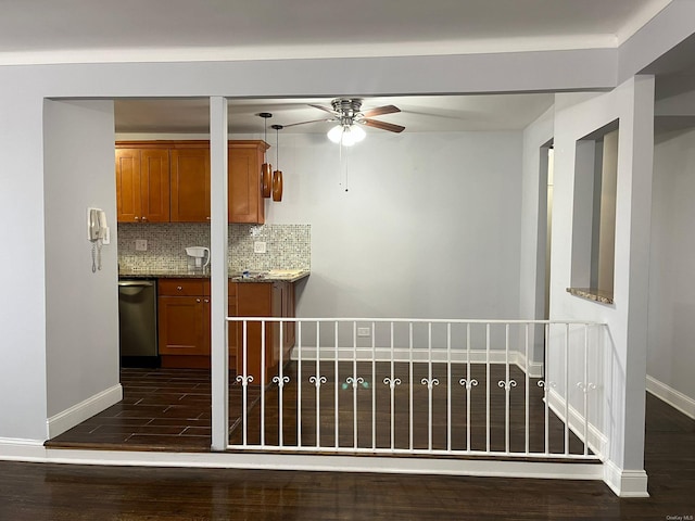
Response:
[{"label": "brown wooden upper cabinet right of white column, beside pendant lamps", "polygon": [[267,148],[263,141],[229,142],[229,223],[265,223],[261,165]]}]

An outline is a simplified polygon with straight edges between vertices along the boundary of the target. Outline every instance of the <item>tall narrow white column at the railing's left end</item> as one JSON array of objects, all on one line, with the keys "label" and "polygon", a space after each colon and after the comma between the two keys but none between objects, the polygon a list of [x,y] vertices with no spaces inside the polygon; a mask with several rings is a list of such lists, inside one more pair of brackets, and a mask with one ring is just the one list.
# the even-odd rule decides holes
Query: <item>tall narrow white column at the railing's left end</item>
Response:
[{"label": "tall narrow white column at the railing's left end", "polygon": [[227,99],[210,98],[212,449],[225,450],[229,425],[227,350]]}]

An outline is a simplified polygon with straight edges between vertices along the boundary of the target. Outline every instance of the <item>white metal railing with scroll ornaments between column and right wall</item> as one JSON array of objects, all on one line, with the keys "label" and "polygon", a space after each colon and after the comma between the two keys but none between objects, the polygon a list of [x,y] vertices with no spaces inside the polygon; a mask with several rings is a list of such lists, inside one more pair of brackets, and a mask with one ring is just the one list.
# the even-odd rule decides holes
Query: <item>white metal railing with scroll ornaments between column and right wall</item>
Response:
[{"label": "white metal railing with scroll ornaments between column and right wall", "polygon": [[228,449],[598,459],[602,325],[229,317]]}]

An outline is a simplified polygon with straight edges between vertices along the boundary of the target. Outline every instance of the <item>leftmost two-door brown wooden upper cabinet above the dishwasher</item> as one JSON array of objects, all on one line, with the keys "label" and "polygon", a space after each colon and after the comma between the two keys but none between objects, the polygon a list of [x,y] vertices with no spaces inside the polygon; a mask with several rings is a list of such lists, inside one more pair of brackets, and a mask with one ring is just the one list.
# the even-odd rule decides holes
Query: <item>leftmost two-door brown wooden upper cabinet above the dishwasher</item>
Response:
[{"label": "leftmost two-door brown wooden upper cabinet above the dishwasher", "polygon": [[123,148],[115,155],[118,223],[167,223],[168,149]]}]

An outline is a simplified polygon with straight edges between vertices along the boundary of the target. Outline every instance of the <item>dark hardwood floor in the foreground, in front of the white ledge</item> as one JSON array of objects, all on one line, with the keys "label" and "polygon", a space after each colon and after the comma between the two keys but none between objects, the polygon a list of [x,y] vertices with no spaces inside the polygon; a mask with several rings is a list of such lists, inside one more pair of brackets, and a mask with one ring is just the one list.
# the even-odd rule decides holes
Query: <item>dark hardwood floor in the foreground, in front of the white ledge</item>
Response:
[{"label": "dark hardwood floor in the foreground, in front of the white ledge", "polygon": [[649,498],[601,482],[0,461],[1,520],[687,520],[695,421],[647,396]]}]

